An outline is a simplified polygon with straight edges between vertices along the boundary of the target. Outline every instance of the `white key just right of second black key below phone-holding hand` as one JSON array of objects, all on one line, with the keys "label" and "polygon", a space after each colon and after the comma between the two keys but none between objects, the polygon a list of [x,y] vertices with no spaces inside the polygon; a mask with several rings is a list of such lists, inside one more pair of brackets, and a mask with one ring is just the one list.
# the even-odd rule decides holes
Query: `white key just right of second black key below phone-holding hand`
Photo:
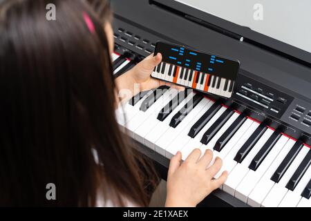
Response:
[{"label": "white key just right of second black key below phone-holding hand", "polygon": [[[129,120],[129,123],[126,124],[126,129],[129,132],[129,135],[132,137],[134,136],[133,131],[135,131],[138,126],[140,126],[146,119],[153,113],[153,111],[157,111],[159,106],[164,106],[166,104],[167,97],[169,97],[171,93],[171,88],[167,90],[158,100],[152,104],[151,107],[148,108],[147,111],[139,111],[135,117],[133,117],[131,120]],[[160,110],[159,110],[160,111]]]}]

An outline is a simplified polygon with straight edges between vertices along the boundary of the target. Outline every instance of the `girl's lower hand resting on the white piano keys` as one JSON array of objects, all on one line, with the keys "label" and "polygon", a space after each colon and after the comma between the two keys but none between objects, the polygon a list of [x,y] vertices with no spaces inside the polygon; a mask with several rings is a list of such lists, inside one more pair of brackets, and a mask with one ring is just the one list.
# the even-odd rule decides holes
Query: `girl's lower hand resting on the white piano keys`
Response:
[{"label": "girl's lower hand resting on the white piano keys", "polygon": [[178,152],[169,164],[167,175],[167,202],[165,206],[196,206],[199,202],[215,189],[218,189],[227,179],[224,171],[218,179],[213,180],[223,162],[216,157],[214,164],[208,169],[213,159],[213,152],[195,149],[180,165],[182,155]]}]

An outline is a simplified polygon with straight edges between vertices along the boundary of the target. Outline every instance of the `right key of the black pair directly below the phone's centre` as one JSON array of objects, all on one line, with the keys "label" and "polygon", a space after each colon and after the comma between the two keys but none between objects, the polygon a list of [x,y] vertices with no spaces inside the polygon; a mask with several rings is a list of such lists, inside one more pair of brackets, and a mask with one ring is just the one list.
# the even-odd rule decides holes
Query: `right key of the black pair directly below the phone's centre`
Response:
[{"label": "right key of the black pair directly below the phone's centre", "polygon": [[178,124],[182,122],[182,119],[184,119],[202,99],[203,99],[202,95],[199,94],[194,95],[194,97],[192,97],[192,99],[183,108],[181,108],[181,110],[178,111],[176,115],[172,117],[169,126],[176,128],[176,126],[178,126]]}]

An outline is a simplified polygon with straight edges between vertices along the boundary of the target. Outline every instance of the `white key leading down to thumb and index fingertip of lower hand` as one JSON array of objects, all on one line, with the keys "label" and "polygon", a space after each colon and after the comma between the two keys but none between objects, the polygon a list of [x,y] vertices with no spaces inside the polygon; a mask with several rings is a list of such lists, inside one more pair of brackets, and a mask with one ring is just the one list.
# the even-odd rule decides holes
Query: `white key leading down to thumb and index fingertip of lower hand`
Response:
[{"label": "white key leading down to thumb and index fingertip of lower hand", "polygon": [[[210,102],[210,105],[213,105],[214,102]],[[207,111],[208,109],[206,109],[204,111],[204,113]],[[202,135],[211,127],[211,125],[214,124],[214,122],[216,122],[216,120],[220,117],[220,115],[222,115],[224,112],[225,112],[226,108],[225,107],[222,107],[220,108],[213,117],[211,117],[211,119],[209,120],[209,122],[207,122],[207,124],[205,124],[205,126],[202,128],[202,130],[196,135],[196,137],[194,137],[192,139],[192,141],[189,143],[189,144],[186,144],[182,150],[181,150],[181,153],[182,153],[182,160],[185,160],[189,153],[191,153],[191,151],[193,151],[195,148],[200,148],[200,150],[202,151],[202,153],[205,152],[205,149],[202,148],[202,146],[206,146],[206,145],[203,145],[200,140],[202,138]],[[203,113],[203,114],[204,114]],[[195,122],[194,122],[195,123]],[[193,126],[193,124],[191,125]],[[189,131],[188,131],[189,132]],[[190,140],[189,140],[190,141]]]}]

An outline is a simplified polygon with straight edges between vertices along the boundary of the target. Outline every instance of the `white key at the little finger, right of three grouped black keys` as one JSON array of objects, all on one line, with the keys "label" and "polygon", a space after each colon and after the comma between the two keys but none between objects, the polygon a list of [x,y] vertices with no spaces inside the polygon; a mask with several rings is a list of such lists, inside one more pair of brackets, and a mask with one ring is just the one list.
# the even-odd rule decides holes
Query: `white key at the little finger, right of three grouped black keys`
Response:
[{"label": "white key at the little finger, right of three grouped black keys", "polygon": [[[253,123],[256,123],[256,122],[252,121],[252,119],[246,119],[245,122],[242,124],[242,126],[240,128],[238,128],[238,131],[236,131],[236,133],[229,140],[229,142],[227,142],[227,144],[223,147],[223,149],[220,152],[214,151],[215,157],[220,157],[223,160],[223,167],[215,175],[216,178],[218,178],[221,175],[221,173],[223,173],[223,171],[227,171],[226,163],[225,163],[226,157],[228,155],[230,155],[230,153],[232,151],[234,151],[235,153],[236,153],[236,151],[238,151],[238,148],[240,146],[239,141],[241,139],[243,139],[243,135],[245,135],[245,133],[247,133],[247,131],[252,129],[252,127],[254,125]],[[231,157],[228,157],[227,159],[231,160]],[[232,157],[232,159],[233,159],[233,157]]]}]

